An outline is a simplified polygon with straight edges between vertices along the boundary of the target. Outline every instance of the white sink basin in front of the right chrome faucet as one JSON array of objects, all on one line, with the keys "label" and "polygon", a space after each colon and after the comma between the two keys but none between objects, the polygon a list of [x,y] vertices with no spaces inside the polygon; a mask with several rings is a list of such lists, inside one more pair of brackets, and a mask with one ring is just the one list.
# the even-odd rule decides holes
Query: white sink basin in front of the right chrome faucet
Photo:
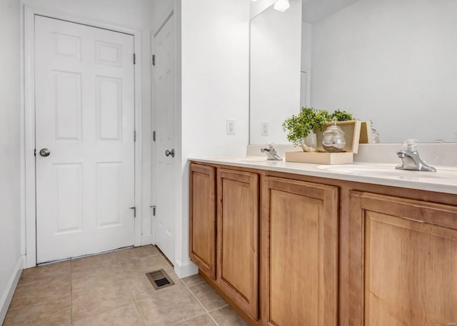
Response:
[{"label": "white sink basin in front of the right chrome faucet", "polygon": [[344,165],[319,165],[318,168],[328,172],[344,173],[351,175],[373,176],[379,178],[401,179],[443,179],[456,178],[456,170],[437,169],[437,172],[423,172],[412,170],[397,170],[396,165],[386,164],[344,164]]}]

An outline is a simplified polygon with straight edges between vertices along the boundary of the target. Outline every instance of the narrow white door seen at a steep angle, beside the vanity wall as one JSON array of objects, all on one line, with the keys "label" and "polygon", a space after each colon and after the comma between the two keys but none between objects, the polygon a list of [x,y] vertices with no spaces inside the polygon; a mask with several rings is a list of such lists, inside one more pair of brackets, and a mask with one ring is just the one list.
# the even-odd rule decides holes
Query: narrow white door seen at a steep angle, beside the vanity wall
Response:
[{"label": "narrow white door seen at a steep angle, beside the vanity wall", "polygon": [[[154,235],[156,245],[174,263],[176,158],[176,69],[174,15],[154,36],[156,60],[156,151],[154,155]],[[172,152],[173,151],[173,152]],[[171,153],[170,153],[171,152]]]}]

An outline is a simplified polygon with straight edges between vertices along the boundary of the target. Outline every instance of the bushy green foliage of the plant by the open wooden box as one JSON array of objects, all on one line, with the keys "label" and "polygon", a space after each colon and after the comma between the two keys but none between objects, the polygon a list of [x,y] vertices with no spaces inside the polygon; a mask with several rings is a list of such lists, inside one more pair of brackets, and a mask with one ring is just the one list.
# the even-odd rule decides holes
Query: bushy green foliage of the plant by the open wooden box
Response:
[{"label": "bushy green foliage of the plant by the open wooden box", "polygon": [[303,107],[297,116],[293,115],[283,122],[283,131],[288,131],[288,141],[299,145],[314,129],[319,128],[322,131],[323,125],[331,121],[333,116],[336,116],[338,121],[353,120],[352,114],[346,111],[336,110],[330,114],[326,110]]}]

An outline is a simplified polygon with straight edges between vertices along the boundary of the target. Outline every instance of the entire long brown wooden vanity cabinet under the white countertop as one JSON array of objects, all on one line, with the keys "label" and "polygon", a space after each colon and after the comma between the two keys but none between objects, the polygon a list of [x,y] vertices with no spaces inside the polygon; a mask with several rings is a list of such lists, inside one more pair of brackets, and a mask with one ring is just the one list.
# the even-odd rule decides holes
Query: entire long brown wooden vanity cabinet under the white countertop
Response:
[{"label": "entire long brown wooden vanity cabinet under the white countertop", "polygon": [[190,215],[248,325],[457,324],[457,195],[192,163]]}]

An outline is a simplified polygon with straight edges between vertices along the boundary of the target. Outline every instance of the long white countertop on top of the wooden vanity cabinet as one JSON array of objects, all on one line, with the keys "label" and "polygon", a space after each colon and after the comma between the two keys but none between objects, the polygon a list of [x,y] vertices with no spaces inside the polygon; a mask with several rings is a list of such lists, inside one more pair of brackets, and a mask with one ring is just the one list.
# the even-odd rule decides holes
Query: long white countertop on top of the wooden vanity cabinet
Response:
[{"label": "long white countertop on top of the wooden vanity cabinet", "polygon": [[357,162],[343,165],[319,165],[286,161],[267,161],[262,156],[248,156],[246,158],[189,158],[189,161],[457,194],[457,168],[446,166],[435,166],[437,172],[421,172],[396,170],[396,164],[391,163]]}]

